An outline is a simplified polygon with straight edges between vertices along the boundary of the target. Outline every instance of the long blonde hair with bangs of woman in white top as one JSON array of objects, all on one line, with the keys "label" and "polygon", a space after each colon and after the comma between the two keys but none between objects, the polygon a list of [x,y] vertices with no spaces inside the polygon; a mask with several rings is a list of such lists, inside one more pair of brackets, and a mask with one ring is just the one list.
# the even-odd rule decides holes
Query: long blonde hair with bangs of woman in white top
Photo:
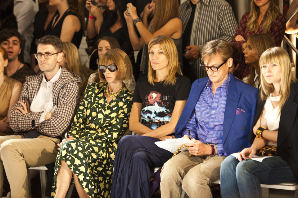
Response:
[{"label": "long blonde hair with bangs of woman in white top", "polygon": [[[296,77],[292,72],[290,57],[287,51],[281,47],[272,47],[264,51],[260,57],[260,68],[267,64],[278,63],[282,67],[281,84],[280,84],[280,102],[279,113],[282,110],[283,105],[286,103],[290,96],[290,84],[291,82],[297,82]],[[261,99],[267,100],[270,93],[274,91],[273,84],[268,84],[261,74]]]}]

